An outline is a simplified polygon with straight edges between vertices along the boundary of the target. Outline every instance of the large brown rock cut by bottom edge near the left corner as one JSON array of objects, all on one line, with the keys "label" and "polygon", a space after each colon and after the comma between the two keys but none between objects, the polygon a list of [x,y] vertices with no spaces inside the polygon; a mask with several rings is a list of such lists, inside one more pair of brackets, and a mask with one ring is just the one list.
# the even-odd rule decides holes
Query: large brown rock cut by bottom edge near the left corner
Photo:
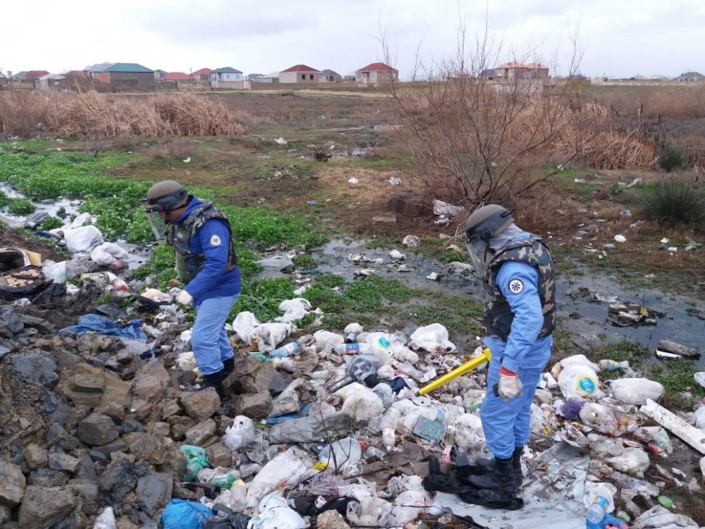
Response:
[{"label": "large brown rock cut by bottom edge near the left corner", "polygon": [[47,529],[73,511],[76,499],[70,490],[27,487],[20,506],[20,527]]}]

